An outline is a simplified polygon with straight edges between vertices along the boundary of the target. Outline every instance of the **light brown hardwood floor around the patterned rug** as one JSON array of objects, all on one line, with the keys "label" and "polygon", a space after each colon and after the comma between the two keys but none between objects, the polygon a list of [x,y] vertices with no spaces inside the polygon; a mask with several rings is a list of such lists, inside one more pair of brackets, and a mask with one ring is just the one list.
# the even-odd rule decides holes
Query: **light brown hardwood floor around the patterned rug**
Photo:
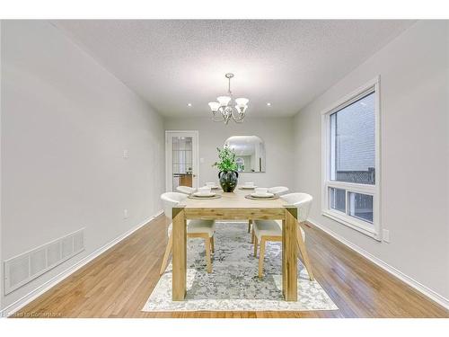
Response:
[{"label": "light brown hardwood floor around the patterned rug", "polygon": [[[161,216],[16,313],[17,317],[449,317],[444,307],[325,234],[304,228],[315,279],[339,310],[144,313],[166,244]],[[251,237],[248,235],[248,240]]]}]

